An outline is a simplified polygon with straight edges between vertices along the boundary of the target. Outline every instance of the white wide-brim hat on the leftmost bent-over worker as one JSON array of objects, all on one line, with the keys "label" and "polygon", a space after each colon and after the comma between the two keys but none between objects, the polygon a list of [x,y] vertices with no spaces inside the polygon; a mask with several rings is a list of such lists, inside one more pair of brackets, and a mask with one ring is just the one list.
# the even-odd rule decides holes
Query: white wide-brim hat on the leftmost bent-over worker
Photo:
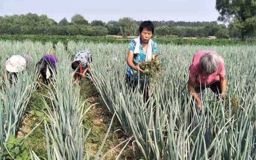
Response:
[{"label": "white wide-brim hat on the leftmost bent-over worker", "polygon": [[6,61],[5,68],[8,72],[21,72],[26,68],[26,60],[22,56],[14,55]]}]

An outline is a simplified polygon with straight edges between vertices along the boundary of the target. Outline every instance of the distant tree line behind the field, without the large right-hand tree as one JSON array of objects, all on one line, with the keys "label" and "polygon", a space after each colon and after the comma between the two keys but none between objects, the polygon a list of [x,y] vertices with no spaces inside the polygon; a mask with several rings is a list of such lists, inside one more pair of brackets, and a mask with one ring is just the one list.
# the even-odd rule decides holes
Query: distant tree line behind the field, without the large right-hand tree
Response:
[{"label": "distant tree line behind the field, without the large right-hand tree", "polygon": [[[46,34],[46,35],[84,35],[84,36],[105,36],[138,35],[138,26],[142,21],[135,21],[132,18],[120,18],[118,21],[102,22],[94,20],[88,22],[82,15],[76,14],[68,22],[66,18],[56,22],[46,15],[20,14],[12,16],[0,16],[0,34]],[[177,36],[177,37],[204,37],[214,36],[221,32],[226,33],[227,28],[217,22],[174,22],[174,21],[153,21],[156,36]],[[228,35],[222,38],[229,38]]]}]

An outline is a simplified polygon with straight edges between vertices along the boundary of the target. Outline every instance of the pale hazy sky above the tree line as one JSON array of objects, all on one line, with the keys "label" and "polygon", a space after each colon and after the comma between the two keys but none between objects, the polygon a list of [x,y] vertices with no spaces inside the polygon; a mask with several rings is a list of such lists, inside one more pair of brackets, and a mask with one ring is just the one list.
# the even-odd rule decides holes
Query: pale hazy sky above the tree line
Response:
[{"label": "pale hazy sky above the tree line", "polygon": [[59,22],[74,14],[86,20],[215,21],[216,0],[0,0],[0,16],[13,14],[46,14]]}]

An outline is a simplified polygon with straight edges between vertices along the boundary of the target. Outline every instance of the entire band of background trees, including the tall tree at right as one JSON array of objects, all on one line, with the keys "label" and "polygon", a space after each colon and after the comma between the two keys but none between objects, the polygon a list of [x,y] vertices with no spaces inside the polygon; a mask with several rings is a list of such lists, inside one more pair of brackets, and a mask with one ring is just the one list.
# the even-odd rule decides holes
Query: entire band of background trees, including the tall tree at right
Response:
[{"label": "entire band of background trees, including the tall tree at right", "polygon": [[[254,38],[256,36],[256,3],[252,0],[216,0],[219,21],[174,22],[153,21],[156,36],[217,38]],[[20,14],[0,16],[0,34],[84,35],[84,36],[137,36],[142,21],[120,18],[118,21],[88,22],[81,14],[75,14],[68,22],[66,18],[56,22],[46,15]]]}]

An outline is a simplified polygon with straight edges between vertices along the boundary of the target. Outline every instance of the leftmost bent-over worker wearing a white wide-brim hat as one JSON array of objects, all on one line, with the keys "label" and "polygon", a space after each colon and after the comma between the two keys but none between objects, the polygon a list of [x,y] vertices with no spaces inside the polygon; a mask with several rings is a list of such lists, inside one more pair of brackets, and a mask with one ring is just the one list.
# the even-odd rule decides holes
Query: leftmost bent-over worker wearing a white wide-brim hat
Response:
[{"label": "leftmost bent-over worker wearing a white wide-brim hat", "polygon": [[9,80],[10,83],[12,83],[14,78],[16,79],[18,74],[23,70],[25,70],[26,65],[27,65],[26,60],[22,56],[14,55],[10,57],[6,61],[6,65],[5,65],[6,70],[4,72],[4,78]]}]

